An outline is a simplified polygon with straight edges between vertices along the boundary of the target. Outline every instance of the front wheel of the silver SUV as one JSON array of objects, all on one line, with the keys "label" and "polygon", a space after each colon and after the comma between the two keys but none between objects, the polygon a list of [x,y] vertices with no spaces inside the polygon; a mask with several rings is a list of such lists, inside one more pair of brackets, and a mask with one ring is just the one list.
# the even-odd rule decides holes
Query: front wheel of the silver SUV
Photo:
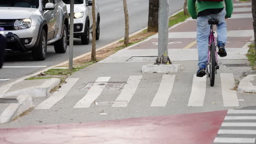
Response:
[{"label": "front wheel of the silver SUV", "polygon": [[34,49],[32,50],[33,59],[36,61],[44,61],[44,59],[46,58],[46,52],[47,52],[47,36],[46,36],[45,30],[43,29],[39,39],[38,46],[34,47]]}]

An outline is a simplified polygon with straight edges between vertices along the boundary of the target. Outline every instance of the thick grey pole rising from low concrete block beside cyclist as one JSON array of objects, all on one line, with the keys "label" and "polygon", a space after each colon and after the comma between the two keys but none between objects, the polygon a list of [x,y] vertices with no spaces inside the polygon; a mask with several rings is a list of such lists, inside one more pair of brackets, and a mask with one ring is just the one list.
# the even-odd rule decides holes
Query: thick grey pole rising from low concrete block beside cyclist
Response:
[{"label": "thick grey pole rising from low concrete block beside cyclist", "polygon": [[168,0],[159,0],[158,59],[156,64],[171,64],[168,56]]}]

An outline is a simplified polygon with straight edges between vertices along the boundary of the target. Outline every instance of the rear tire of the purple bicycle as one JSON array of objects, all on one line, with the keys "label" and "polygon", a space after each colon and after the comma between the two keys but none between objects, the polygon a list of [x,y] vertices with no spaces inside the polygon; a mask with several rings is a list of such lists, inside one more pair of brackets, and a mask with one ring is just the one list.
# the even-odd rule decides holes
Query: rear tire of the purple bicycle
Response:
[{"label": "rear tire of the purple bicycle", "polygon": [[215,73],[216,71],[216,46],[215,42],[212,41],[211,44],[211,54],[210,54],[210,83],[211,86],[214,86],[214,81],[215,81]]}]

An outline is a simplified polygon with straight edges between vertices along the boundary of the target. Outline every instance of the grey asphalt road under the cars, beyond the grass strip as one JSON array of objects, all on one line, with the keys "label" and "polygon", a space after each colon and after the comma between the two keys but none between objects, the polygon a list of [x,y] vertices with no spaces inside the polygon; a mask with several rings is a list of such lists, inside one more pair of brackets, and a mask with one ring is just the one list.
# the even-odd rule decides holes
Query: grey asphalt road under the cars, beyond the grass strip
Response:
[{"label": "grey asphalt road under the cars, beyond the grass strip", "polygon": [[[120,0],[98,0],[101,14],[101,36],[97,41],[97,48],[110,44],[113,41],[124,37],[124,12],[123,1]],[[139,31],[147,27],[148,22],[148,0],[129,0],[127,1],[130,17],[130,33]],[[175,13],[183,7],[183,1],[170,1],[170,14]],[[91,51],[91,44],[81,45],[80,40],[74,42],[74,57]],[[8,56],[4,66],[0,70],[0,83],[8,82],[6,79],[16,79],[18,77],[34,73],[50,67],[68,59],[68,51],[62,54],[54,52],[53,45],[48,46],[47,58],[45,61],[33,61],[31,53]],[[13,68],[14,66],[39,66],[38,68]]]}]

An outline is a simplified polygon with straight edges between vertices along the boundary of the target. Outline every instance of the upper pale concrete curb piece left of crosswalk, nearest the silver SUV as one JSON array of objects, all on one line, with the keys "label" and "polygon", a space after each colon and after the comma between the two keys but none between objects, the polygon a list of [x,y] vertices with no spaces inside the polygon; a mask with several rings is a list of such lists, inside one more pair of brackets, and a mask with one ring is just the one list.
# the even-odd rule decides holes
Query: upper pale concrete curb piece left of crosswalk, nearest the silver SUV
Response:
[{"label": "upper pale concrete curb piece left of crosswalk, nearest the silver SUV", "polygon": [[51,89],[59,85],[60,82],[60,79],[52,78],[46,80],[40,86],[28,87],[24,89],[19,89],[17,91],[5,93],[4,97],[19,97],[21,95],[28,95],[31,98],[46,97],[50,93]]}]

